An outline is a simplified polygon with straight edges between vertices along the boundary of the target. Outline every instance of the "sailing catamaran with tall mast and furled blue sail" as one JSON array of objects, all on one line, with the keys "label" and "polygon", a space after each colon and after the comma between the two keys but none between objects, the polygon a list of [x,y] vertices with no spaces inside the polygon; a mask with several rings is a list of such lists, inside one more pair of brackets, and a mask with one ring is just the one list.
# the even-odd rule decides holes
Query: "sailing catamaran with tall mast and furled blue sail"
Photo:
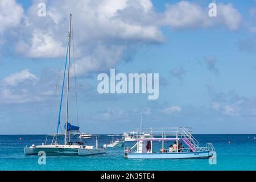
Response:
[{"label": "sailing catamaran with tall mast and furled blue sail", "polygon": [[[84,134],[80,133],[79,126],[71,125],[69,122],[69,66],[70,66],[70,53],[71,53],[71,26],[72,26],[72,15],[70,14],[69,19],[69,33],[68,33],[68,44],[67,44],[67,53],[66,53],[66,59],[65,59],[65,69],[64,69],[64,77],[63,77],[63,84],[61,88],[61,98],[60,98],[60,108],[59,108],[59,117],[58,117],[58,123],[57,123],[57,132],[52,138],[51,144],[47,144],[47,138],[42,145],[35,146],[35,144],[32,144],[30,147],[24,147],[24,154],[30,155],[30,154],[38,154],[39,151],[44,151],[46,153],[56,153],[61,155],[93,155],[93,154],[104,154],[106,153],[105,148],[100,148],[98,145],[98,136],[97,135],[91,135],[91,134]],[[65,72],[67,69],[67,101],[66,101],[66,113],[65,113],[65,134],[59,133],[59,127],[60,127],[60,114],[61,114],[61,106],[62,106],[62,100],[63,100],[63,91],[64,91],[64,83],[65,83]],[[64,143],[60,144],[59,142],[62,142],[59,136],[64,136]],[[80,139],[78,142],[73,142],[73,139],[75,139],[77,136]],[[91,137],[96,137],[96,146],[90,146],[85,145],[84,141],[85,139],[89,139]],[[82,142],[82,139],[84,140]],[[86,142],[86,141],[85,141]]]}]

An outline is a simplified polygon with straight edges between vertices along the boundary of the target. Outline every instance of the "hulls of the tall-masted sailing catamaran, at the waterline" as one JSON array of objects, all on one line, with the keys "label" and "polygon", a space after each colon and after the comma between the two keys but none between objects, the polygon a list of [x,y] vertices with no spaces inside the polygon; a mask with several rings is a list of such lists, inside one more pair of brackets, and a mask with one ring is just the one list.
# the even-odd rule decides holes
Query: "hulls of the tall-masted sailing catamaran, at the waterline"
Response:
[{"label": "hulls of the tall-masted sailing catamaran, at the waterline", "polygon": [[55,155],[95,155],[106,153],[106,151],[101,148],[97,149],[93,146],[86,146],[86,148],[81,148],[77,145],[47,145],[24,148],[24,154],[26,155],[37,155],[40,151],[44,151],[46,154]]}]

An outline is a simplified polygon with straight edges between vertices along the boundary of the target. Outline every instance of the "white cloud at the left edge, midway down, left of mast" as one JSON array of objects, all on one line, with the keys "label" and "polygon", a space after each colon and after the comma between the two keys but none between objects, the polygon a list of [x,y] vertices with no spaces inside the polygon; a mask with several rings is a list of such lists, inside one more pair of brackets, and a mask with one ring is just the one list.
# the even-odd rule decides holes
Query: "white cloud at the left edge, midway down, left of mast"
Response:
[{"label": "white cloud at the left edge, midway down, left of mast", "polygon": [[[51,79],[45,75],[47,73]],[[0,81],[0,103],[26,104],[47,101],[56,94],[53,92],[56,83],[52,79],[52,74],[47,73],[38,78],[28,69],[24,69],[3,78]]]}]

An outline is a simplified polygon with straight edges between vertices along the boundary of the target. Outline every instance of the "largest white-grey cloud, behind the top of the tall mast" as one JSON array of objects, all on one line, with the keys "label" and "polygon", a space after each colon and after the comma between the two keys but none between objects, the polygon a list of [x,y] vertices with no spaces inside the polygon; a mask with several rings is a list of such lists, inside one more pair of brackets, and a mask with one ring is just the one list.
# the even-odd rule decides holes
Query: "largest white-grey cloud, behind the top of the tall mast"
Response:
[{"label": "largest white-grey cloud, behind the top of the tall mast", "polygon": [[[35,16],[37,3],[28,9],[26,23],[20,26],[16,52],[32,58],[63,56],[72,13],[80,74],[106,70],[138,44],[164,40],[158,24],[137,20],[154,11],[150,0],[51,1],[46,2],[46,17]],[[139,16],[129,18],[133,15]]]}]

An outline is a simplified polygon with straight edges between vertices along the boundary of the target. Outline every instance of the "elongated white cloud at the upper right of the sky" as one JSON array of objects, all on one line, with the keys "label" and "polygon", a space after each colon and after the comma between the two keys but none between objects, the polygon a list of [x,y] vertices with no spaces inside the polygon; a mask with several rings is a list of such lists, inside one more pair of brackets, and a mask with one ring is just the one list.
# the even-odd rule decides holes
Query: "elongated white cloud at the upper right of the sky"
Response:
[{"label": "elongated white cloud at the upper right of the sky", "polygon": [[238,30],[242,16],[231,3],[217,4],[217,17],[208,16],[209,9],[203,9],[196,3],[180,1],[176,4],[167,4],[162,24],[168,24],[172,29],[212,27],[223,25],[229,30]]}]

